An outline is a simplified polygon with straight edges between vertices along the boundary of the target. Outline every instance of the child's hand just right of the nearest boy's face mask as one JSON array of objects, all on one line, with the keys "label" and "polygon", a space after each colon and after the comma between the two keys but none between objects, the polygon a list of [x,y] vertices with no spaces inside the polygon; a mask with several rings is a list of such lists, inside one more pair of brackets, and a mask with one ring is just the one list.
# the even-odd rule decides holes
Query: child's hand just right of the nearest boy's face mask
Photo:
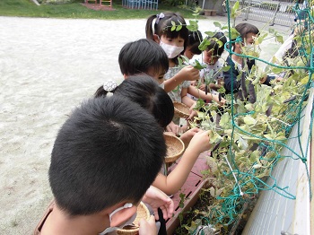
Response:
[{"label": "child's hand just right of the nearest boy's face mask", "polygon": [[174,210],[173,201],[170,199],[169,196],[167,196],[157,187],[149,187],[142,201],[152,206],[153,213],[157,221],[159,220],[158,208],[161,208],[161,211],[163,213],[163,219],[167,220],[172,216]]}]

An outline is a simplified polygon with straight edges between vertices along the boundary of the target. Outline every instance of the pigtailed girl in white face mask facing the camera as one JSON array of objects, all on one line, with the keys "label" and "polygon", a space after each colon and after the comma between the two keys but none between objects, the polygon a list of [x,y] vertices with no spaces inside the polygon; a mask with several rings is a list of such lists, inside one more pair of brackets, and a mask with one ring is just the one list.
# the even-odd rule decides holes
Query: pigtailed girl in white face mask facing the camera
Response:
[{"label": "pigtailed girl in white face mask facing the camera", "polygon": [[[177,30],[171,30],[173,23],[179,27]],[[164,75],[164,83],[171,100],[193,107],[196,102],[188,97],[188,87],[189,81],[199,79],[199,71],[191,65],[182,69],[178,67],[178,57],[188,42],[188,28],[184,18],[178,13],[168,12],[150,16],[146,22],[146,38],[158,43],[169,58],[169,70]],[[191,109],[188,119],[194,116],[196,112]],[[178,125],[179,117],[174,117],[173,121]]]}]

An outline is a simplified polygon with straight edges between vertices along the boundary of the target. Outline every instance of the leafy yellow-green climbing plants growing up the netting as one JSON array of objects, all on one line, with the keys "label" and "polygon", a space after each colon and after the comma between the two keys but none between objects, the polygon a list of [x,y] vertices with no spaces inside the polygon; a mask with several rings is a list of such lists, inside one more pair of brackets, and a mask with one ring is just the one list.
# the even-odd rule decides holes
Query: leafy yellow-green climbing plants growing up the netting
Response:
[{"label": "leafy yellow-green climbing plants growing up the netting", "polygon": [[[239,6],[239,3],[233,5],[233,18],[238,15]],[[313,25],[313,19],[310,21],[309,24]],[[215,25],[222,30],[229,30],[227,35],[235,39],[234,43],[240,42],[237,39],[239,34],[230,25],[222,26],[218,22]],[[178,29],[179,25],[172,25],[172,30]],[[197,20],[190,21],[188,29],[196,31]],[[253,48],[243,46],[243,52],[238,56],[260,60],[267,64],[266,70],[253,66],[249,71],[244,65],[237,78],[241,82],[241,90],[237,95],[225,95],[226,100],[229,100],[225,107],[215,103],[207,105],[204,100],[197,100],[195,109],[198,110],[198,117],[191,126],[210,130],[210,142],[214,147],[212,156],[207,160],[209,170],[204,171],[204,177],[209,180],[211,187],[204,190],[208,200],[206,206],[192,210],[192,219],[181,222],[186,232],[194,232],[201,224],[214,226],[224,232],[231,231],[233,224],[237,224],[249,203],[257,198],[261,190],[274,190],[282,196],[295,199],[286,187],[276,185],[275,178],[271,185],[266,184],[266,179],[273,178],[273,168],[285,157],[304,162],[302,156],[295,153],[282,156],[281,151],[287,147],[285,144],[292,126],[301,118],[310,84],[314,82],[313,65],[308,64],[313,57],[313,32],[309,29],[295,37],[299,45],[299,48],[295,48],[297,56],[284,57],[283,62],[273,58],[276,64],[258,58],[259,45],[268,37],[268,32],[262,31],[255,39]],[[211,37],[215,32],[205,33]],[[283,42],[283,37],[274,30],[269,33],[272,33],[271,38]],[[206,43],[205,39],[199,48],[204,50]],[[229,52],[234,53],[231,50]],[[186,57],[182,57],[179,62],[180,65],[189,64]],[[193,65],[202,68],[198,61]],[[227,70],[228,67],[222,69]],[[271,86],[260,84],[260,79],[269,73],[281,74],[283,80],[273,82]]]}]

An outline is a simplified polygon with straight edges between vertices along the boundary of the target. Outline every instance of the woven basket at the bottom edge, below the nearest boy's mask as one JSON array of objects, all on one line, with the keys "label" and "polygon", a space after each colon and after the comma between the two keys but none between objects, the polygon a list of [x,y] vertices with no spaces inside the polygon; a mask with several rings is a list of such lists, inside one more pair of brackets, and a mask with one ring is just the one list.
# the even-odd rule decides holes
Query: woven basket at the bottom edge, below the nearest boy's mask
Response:
[{"label": "woven basket at the bottom edge, below the nearest boy's mask", "polygon": [[151,214],[150,214],[147,206],[144,205],[144,203],[142,203],[142,202],[137,206],[137,212],[136,213],[137,213],[136,218],[135,218],[135,221],[133,222],[135,224],[135,226],[126,225],[124,227],[125,229],[118,229],[117,234],[127,234],[127,235],[138,234],[138,231],[140,230],[140,228],[138,227],[138,222],[141,219],[145,219],[146,221],[148,221]]}]

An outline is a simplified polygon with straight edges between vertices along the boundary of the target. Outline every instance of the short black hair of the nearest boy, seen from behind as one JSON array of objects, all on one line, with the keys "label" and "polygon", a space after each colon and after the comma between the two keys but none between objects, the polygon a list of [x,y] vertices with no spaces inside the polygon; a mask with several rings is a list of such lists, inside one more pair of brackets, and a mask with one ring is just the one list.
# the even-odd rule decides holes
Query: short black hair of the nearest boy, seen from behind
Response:
[{"label": "short black hair of the nearest boy, seen from behind", "polygon": [[136,204],[165,154],[161,126],[140,105],[120,96],[87,100],[57,134],[48,171],[52,193],[72,216]]}]

